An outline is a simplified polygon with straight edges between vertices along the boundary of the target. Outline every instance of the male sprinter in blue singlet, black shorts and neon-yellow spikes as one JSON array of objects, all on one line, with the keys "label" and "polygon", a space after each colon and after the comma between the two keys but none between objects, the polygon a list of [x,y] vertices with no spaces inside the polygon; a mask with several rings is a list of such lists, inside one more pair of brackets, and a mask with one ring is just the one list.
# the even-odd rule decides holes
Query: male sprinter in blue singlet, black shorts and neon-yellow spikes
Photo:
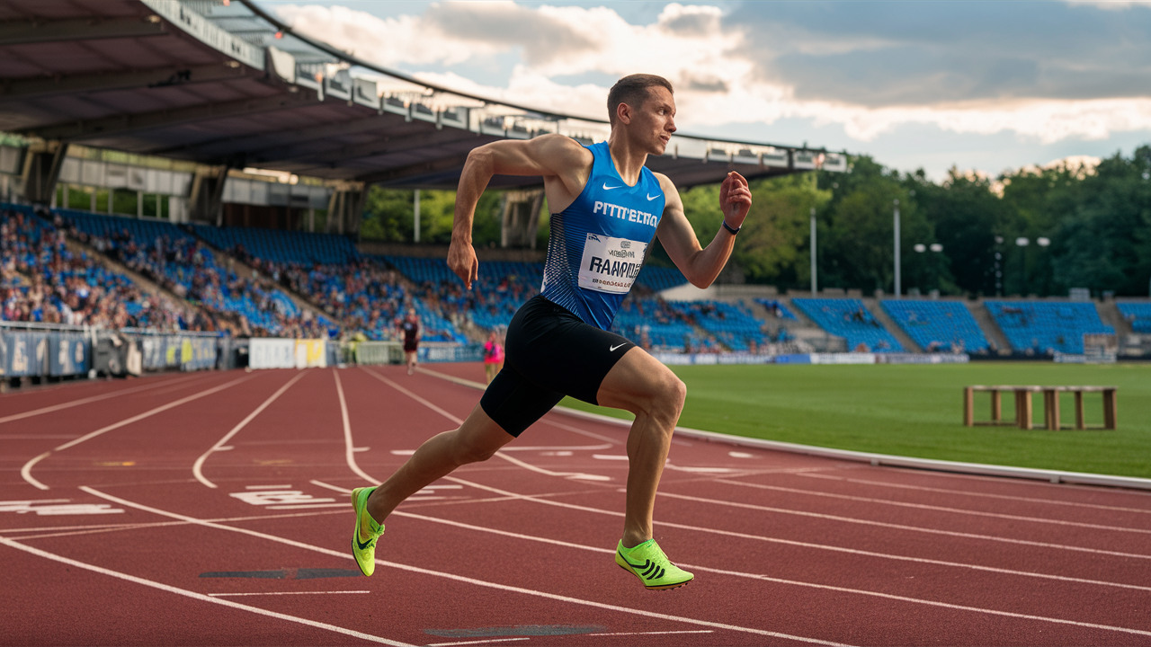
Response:
[{"label": "male sprinter in blue singlet, black shorts and neon-yellow spikes", "polygon": [[448,265],[471,288],[479,262],[472,216],[493,175],[542,175],[551,239],[542,294],[508,327],[503,370],[458,429],[425,442],[383,485],[352,492],[352,553],[375,570],[383,520],[405,498],[456,467],[487,460],[564,395],[635,414],[627,436],[627,509],[616,563],[647,588],[676,588],[692,573],[673,565],[651,538],[655,490],[686,390],[666,366],[608,332],[639,274],[653,236],[684,275],[710,286],[731,254],[752,206],[747,181],[727,174],[719,190],[724,226],[701,249],[676,187],[643,165],[676,131],[671,84],[627,76],[608,94],[609,139],[581,146],[562,135],[494,142],[471,152],[459,178]]}]

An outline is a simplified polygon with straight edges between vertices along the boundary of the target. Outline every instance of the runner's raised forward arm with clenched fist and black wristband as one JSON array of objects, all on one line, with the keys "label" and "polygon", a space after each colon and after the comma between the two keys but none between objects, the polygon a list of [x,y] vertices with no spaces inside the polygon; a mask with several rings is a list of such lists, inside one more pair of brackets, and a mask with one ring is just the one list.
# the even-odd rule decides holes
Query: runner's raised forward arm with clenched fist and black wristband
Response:
[{"label": "runner's raised forward arm with clenched fist and black wristband", "polygon": [[[735,235],[721,227],[711,244],[701,248],[692,223],[684,214],[684,203],[676,185],[662,174],[656,176],[666,197],[663,218],[656,230],[660,242],[676,267],[679,267],[693,286],[707,288],[727,262],[731,250],[735,246]],[[752,192],[747,188],[747,180],[738,173],[729,173],[719,188],[719,208],[723,211],[724,221],[733,229],[739,229],[750,207]]]}]

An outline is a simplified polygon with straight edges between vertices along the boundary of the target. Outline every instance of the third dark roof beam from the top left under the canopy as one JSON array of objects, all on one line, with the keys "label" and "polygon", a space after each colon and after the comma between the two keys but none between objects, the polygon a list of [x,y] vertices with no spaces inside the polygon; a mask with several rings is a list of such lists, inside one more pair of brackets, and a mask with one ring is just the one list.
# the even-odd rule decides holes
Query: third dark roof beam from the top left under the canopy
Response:
[{"label": "third dark roof beam from the top left under the canopy", "polygon": [[186,108],[155,111],[135,115],[116,115],[91,121],[28,128],[22,131],[22,135],[35,135],[44,139],[91,139],[93,137],[120,136],[138,130],[165,128],[209,119],[235,117],[296,108],[315,101],[317,96],[314,92],[300,89],[299,92],[291,94],[239,99],[223,104],[201,104]]}]

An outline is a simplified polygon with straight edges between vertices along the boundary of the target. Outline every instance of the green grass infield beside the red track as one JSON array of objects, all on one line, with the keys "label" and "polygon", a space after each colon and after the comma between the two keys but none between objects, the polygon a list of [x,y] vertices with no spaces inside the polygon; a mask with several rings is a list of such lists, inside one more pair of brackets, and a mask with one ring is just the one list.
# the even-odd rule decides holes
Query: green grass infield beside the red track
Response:
[{"label": "green grass infield beside the red track", "polygon": [[[1151,365],[974,363],[870,366],[678,366],[687,383],[679,424],[740,436],[857,451],[997,465],[1151,477]],[[1022,431],[965,427],[967,385],[1107,385],[1119,387],[1116,431]],[[572,398],[585,411],[623,411]],[[1043,423],[1043,397],[1035,397]],[[1064,424],[1074,402],[1062,396]],[[1084,396],[1089,425],[1103,423],[1102,396]],[[1014,398],[1004,398],[1014,418]],[[990,396],[976,394],[975,419],[990,418]]]}]

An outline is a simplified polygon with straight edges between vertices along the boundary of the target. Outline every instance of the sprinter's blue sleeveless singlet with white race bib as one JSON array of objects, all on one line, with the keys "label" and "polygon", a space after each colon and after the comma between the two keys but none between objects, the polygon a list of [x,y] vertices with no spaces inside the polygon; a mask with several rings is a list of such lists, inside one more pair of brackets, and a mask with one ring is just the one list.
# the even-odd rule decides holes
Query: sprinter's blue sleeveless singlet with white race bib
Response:
[{"label": "sprinter's blue sleeveless singlet with white race bib", "polygon": [[664,195],[650,169],[624,184],[607,142],[587,146],[595,161],[576,201],[551,214],[544,298],[608,330],[640,273],[663,216]]}]

